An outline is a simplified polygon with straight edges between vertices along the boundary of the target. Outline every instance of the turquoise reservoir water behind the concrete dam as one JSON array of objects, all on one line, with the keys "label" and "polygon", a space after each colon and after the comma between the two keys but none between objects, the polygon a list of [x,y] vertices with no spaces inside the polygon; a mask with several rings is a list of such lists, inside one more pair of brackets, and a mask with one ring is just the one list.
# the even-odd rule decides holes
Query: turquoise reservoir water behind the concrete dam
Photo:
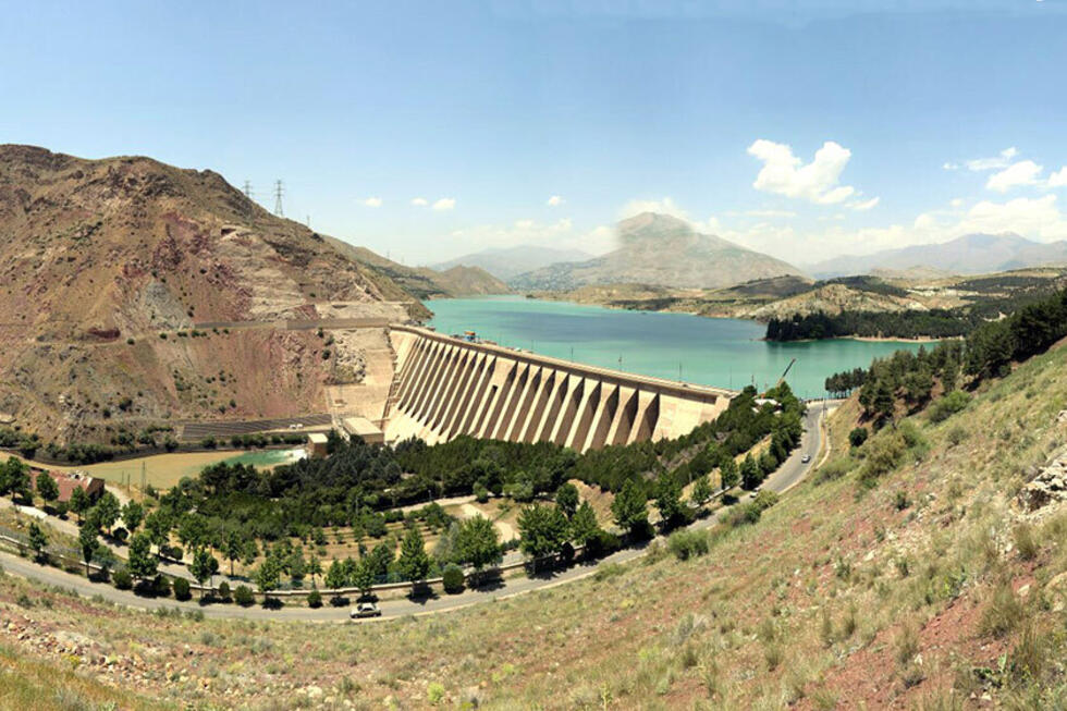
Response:
[{"label": "turquoise reservoir water behind the concrete dam", "polygon": [[[866,367],[871,359],[916,343],[835,339],[805,343],[761,341],[755,321],[686,314],[625,311],[522,296],[449,298],[429,303],[430,326],[442,333],[476,331],[501,345],[587,365],[704,385],[740,389],[774,384],[789,360],[787,380],[804,397],[825,395],[834,372]],[[622,358],[622,363],[620,363]]]}]

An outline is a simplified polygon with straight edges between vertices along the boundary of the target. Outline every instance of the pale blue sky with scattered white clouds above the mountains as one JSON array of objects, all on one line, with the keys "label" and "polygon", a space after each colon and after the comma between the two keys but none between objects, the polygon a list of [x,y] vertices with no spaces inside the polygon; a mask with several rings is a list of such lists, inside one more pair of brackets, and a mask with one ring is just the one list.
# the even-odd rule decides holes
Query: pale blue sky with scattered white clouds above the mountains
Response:
[{"label": "pale blue sky with scattered white clouds above the mountains", "polygon": [[796,265],[1067,238],[1067,0],[9,2],[0,143],[249,181],[408,265],[651,209]]}]

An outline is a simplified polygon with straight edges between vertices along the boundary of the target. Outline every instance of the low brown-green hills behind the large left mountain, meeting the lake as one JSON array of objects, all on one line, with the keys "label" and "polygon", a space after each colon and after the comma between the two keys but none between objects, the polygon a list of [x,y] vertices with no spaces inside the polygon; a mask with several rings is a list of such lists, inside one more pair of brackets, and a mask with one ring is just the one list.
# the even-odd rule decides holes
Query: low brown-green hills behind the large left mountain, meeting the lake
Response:
[{"label": "low brown-green hills behind the large left mountain, meeting the lake", "polygon": [[366,247],[351,245],[335,237],[326,237],[326,241],[340,254],[373,269],[421,299],[506,294],[511,291],[507,284],[480,267],[457,265],[443,270],[405,267]]}]

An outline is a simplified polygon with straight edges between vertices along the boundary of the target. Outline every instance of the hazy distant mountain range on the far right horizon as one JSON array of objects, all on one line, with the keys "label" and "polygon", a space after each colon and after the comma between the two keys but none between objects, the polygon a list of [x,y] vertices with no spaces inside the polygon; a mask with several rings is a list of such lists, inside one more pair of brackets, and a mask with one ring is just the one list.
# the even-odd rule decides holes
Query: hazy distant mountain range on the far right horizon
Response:
[{"label": "hazy distant mountain range on the far right horizon", "polygon": [[866,274],[875,269],[908,272],[916,268],[981,274],[1050,263],[1067,263],[1067,241],[1044,244],[1018,234],[968,234],[942,244],[842,256],[808,267],[815,277]]}]

